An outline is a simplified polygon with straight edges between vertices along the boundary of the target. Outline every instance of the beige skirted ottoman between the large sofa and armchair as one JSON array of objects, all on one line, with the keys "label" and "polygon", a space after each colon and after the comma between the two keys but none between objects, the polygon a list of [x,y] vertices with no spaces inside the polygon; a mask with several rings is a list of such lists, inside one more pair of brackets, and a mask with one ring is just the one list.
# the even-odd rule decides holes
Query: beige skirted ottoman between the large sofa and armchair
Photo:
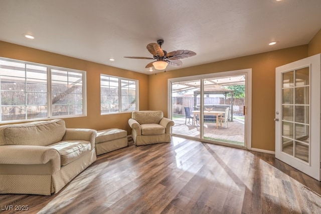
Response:
[{"label": "beige skirted ottoman between the large sofa and armchair", "polygon": [[96,155],[104,154],[128,146],[127,132],[112,128],[97,131],[95,138]]}]

